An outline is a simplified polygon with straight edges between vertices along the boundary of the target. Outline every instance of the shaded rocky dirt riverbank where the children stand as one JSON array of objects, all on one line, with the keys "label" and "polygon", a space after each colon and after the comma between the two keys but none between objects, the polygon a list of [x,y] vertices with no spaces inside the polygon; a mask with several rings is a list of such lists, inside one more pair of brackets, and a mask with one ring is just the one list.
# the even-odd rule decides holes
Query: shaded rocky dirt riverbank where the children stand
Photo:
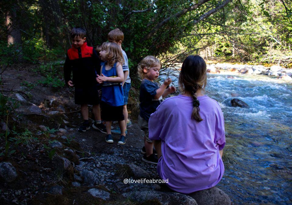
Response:
[{"label": "shaded rocky dirt riverbank where the children stand", "polygon": [[159,179],[156,166],[141,160],[144,140],[138,125],[128,127],[126,145],[116,143],[118,135],[107,144],[105,134],[92,128],[80,133],[73,89],[27,86],[38,78],[13,69],[2,76],[1,97],[10,113],[1,121],[8,139],[5,134],[0,139],[2,204],[196,204],[159,181],[124,183]]}]

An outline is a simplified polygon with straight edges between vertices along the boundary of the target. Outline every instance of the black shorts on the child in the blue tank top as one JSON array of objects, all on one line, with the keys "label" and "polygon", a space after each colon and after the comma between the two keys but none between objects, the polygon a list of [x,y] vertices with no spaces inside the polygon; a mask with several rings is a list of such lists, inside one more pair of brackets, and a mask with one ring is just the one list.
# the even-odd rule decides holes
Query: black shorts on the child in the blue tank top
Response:
[{"label": "black shorts on the child in the blue tank top", "polygon": [[118,107],[110,106],[101,101],[102,118],[104,121],[122,121],[124,120],[123,105]]}]

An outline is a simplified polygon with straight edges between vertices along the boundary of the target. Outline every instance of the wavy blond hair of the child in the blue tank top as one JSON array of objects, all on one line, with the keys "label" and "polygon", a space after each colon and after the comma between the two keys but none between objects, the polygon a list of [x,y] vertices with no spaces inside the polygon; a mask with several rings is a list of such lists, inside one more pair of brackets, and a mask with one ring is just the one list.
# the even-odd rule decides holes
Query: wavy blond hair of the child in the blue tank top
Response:
[{"label": "wavy blond hair of the child in the blue tank top", "polygon": [[116,43],[104,42],[102,50],[106,51],[106,61],[109,66],[113,66],[115,63],[124,64],[124,56],[120,47]]}]

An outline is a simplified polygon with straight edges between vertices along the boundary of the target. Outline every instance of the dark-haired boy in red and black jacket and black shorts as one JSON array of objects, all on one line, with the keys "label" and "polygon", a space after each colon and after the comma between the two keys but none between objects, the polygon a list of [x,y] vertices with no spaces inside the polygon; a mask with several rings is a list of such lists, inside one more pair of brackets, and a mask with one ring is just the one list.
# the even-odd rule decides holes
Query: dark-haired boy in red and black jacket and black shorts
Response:
[{"label": "dark-haired boy in red and black jacket and black shorts", "polygon": [[[90,128],[88,121],[88,104],[92,105],[95,117],[93,128],[106,133],[106,128],[101,123],[100,96],[101,86],[96,82],[96,75],[100,74],[101,60],[93,47],[87,46],[85,29],[75,27],[70,32],[72,48],[67,51],[64,64],[64,78],[66,85],[75,87],[75,104],[81,105],[84,119],[78,131],[85,132]],[[73,79],[71,79],[73,73]]]}]

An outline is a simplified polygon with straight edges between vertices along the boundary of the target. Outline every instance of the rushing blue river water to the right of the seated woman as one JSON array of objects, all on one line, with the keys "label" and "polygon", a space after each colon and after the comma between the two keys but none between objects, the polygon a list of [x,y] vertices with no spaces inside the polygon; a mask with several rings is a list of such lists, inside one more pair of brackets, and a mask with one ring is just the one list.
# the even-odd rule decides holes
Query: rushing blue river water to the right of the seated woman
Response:
[{"label": "rushing blue river water to the right of the seated woman", "polygon": [[[292,85],[262,75],[233,77],[209,75],[206,89],[225,119],[225,172],[217,187],[235,204],[292,203]],[[231,107],[233,98],[250,108]]]}]

